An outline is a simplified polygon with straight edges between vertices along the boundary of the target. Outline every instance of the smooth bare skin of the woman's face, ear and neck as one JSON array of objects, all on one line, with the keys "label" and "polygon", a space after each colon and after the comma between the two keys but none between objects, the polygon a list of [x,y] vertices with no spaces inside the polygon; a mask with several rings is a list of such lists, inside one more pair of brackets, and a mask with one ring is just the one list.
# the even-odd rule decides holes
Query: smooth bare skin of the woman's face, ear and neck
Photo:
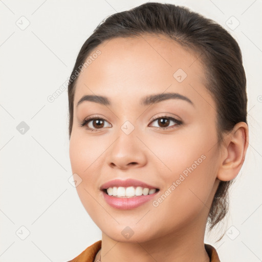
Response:
[{"label": "smooth bare skin of the woman's face, ear and neck", "polygon": [[[178,43],[143,35],[114,38],[97,49],[101,54],[77,80],[70,139],[72,171],[82,179],[79,198],[102,231],[96,259],[101,252],[102,262],[209,261],[204,248],[209,208],[219,181],[234,179],[243,165],[247,124],[236,124],[219,148],[205,69],[198,54]],[[182,82],[173,77],[178,69],[187,74]],[[140,104],[143,97],[162,93],[186,96],[193,105],[182,99]],[[76,106],[83,95],[106,96],[112,105],[84,101]],[[89,116],[105,121],[80,126]],[[155,120],[166,116],[183,123]],[[126,121],[135,127],[129,135],[121,129]],[[202,155],[205,160],[158,207],[149,201],[116,209],[99,190],[107,181],[133,178],[160,188],[157,200]],[[121,233],[127,226],[134,231],[129,239]]]}]

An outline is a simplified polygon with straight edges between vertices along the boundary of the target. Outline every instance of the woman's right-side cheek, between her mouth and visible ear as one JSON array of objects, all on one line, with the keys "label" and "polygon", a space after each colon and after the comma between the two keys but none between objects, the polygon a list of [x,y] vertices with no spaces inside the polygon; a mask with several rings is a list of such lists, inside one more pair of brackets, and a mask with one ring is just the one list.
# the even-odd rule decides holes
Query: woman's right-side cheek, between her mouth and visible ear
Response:
[{"label": "woman's right-side cheek, between her mouth and visible ear", "polygon": [[[163,204],[158,208],[163,208],[163,212],[172,207],[183,217],[190,217],[205,208],[216,178],[216,139],[214,127],[196,125],[190,130],[181,129],[173,138],[166,136],[161,142],[151,143],[150,149],[157,152],[161,160],[156,168],[164,193],[159,200]],[[168,211],[165,215],[172,219],[171,213]]]}]

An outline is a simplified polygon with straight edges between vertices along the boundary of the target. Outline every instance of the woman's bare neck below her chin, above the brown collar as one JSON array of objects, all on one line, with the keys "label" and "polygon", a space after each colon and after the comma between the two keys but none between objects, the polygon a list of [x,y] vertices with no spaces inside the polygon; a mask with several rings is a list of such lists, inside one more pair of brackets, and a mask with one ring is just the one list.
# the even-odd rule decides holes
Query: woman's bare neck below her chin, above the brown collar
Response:
[{"label": "woman's bare neck below her chin, above the brown collar", "polygon": [[191,226],[185,225],[175,233],[167,233],[149,241],[134,239],[131,243],[114,241],[102,232],[102,246],[95,262],[100,256],[101,262],[133,262],[134,259],[141,262],[209,262],[210,258],[204,246],[204,234],[205,225],[203,228],[195,223]]}]

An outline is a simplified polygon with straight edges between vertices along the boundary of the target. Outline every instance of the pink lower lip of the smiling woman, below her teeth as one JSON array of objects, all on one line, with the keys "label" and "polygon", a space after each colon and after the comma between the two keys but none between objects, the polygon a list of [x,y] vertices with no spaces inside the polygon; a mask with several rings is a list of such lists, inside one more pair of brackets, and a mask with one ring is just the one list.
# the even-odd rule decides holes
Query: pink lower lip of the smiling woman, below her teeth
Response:
[{"label": "pink lower lip of the smiling woman, below her teeth", "polygon": [[133,209],[143,205],[144,203],[154,198],[158,192],[159,190],[154,194],[139,195],[138,197],[134,197],[134,198],[116,198],[113,195],[108,195],[107,193],[102,191],[104,200],[108,205],[117,209],[125,209],[125,210]]}]

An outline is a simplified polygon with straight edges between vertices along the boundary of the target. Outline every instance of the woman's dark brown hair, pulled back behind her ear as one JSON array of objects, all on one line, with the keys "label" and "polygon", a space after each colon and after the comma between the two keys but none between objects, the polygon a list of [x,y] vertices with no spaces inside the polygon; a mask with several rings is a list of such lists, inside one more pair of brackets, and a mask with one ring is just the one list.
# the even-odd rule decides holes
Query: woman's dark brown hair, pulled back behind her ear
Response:
[{"label": "woman's dark brown hair, pulled back behind her ear", "polygon": [[[206,88],[216,104],[218,145],[223,142],[224,132],[232,130],[238,122],[247,123],[246,75],[242,53],[236,40],[215,21],[188,8],[172,4],[146,3],[108,16],[84,42],[68,85],[69,138],[72,132],[73,101],[78,79],[76,73],[79,75],[85,60],[105,40],[139,37],[145,34],[164,35],[198,54],[198,59],[205,67]],[[208,215],[209,230],[227,214],[228,188],[232,181],[221,181],[216,190]]]}]

